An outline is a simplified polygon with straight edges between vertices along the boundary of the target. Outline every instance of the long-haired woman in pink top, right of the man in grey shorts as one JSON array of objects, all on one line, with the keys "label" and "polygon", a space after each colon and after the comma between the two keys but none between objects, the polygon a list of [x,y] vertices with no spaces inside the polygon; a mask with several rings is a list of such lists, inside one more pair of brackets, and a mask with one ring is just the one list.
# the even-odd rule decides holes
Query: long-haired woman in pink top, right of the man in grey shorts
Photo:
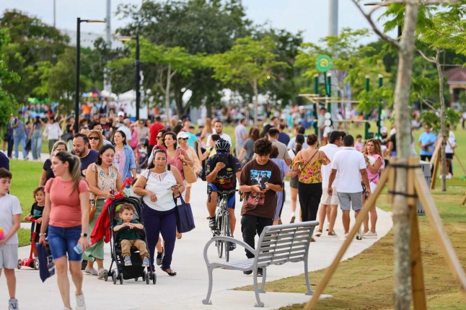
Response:
[{"label": "long-haired woman in pink top, right of the man in grey shorts", "polygon": [[[375,187],[379,182],[379,176],[383,169],[383,157],[379,140],[370,139],[366,142],[367,156],[367,177],[369,178],[370,192],[375,191]],[[364,238],[377,238],[375,224],[377,223],[377,211],[375,206],[370,210],[370,230],[369,219],[364,220]]]}]

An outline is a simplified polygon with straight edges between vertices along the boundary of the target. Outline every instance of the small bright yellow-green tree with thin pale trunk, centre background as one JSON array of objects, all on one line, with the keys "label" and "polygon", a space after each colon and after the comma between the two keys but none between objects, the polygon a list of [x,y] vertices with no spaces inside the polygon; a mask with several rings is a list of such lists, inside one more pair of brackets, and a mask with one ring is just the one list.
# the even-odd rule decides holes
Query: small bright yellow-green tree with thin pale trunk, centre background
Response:
[{"label": "small bright yellow-green tree with thin pale trunk, centre background", "polygon": [[248,83],[254,93],[254,123],[258,114],[258,87],[275,78],[272,69],[287,67],[286,62],[277,61],[273,53],[275,42],[270,37],[254,40],[252,37],[236,39],[232,49],[222,54],[207,56],[206,64],[214,68],[214,78],[223,83]]}]

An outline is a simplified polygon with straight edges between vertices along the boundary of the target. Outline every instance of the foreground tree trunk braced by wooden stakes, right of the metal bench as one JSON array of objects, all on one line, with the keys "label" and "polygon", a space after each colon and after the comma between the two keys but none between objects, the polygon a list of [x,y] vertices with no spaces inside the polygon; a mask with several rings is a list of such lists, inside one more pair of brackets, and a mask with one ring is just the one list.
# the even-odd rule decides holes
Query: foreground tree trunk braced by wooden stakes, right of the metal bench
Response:
[{"label": "foreground tree trunk braced by wooden stakes, right of the metal bench", "polygon": [[[411,111],[409,93],[413,71],[414,42],[417,23],[418,0],[407,0],[403,34],[399,42],[398,73],[395,88],[395,127],[397,138],[397,163],[408,164],[411,155]],[[407,192],[408,171],[396,169],[395,191]],[[395,309],[410,309],[410,210],[405,196],[393,199],[393,230],[395,248]]]}]

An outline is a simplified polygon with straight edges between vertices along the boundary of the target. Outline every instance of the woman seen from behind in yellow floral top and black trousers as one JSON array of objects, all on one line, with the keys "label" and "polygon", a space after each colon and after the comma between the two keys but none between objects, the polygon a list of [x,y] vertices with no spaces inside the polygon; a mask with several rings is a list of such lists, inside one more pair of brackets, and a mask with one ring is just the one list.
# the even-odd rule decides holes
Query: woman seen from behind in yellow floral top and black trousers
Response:
[{"label": "woman seen from behind in yellow floral top and black trousers", "polygon": [[316,135],[307,136],[307,145],[309,147],[298,152],[293,163],[293,171],[299,171],[298,193],[303,222],[316,220],[322,196],[320,167],[330,163],[325,153],[318,150]]}]

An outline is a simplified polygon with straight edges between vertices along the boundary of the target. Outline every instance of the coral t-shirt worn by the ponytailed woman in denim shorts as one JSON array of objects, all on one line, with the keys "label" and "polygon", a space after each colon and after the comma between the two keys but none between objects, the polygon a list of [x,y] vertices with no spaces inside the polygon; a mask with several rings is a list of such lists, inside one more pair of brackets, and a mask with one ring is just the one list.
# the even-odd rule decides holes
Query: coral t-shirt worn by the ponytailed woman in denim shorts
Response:
[{"label": "coral t-shirt worn by the ponytailed woman in denim shorts", "polygon": [[64,182],[59,177],[50,179],[45,184],[45,192],[50,194],[50,225],[56,227],[81,226],[79,193],[89,191],[89,186],[82,178],[78,188],[71,193],[72,187],[72,180]]}]

